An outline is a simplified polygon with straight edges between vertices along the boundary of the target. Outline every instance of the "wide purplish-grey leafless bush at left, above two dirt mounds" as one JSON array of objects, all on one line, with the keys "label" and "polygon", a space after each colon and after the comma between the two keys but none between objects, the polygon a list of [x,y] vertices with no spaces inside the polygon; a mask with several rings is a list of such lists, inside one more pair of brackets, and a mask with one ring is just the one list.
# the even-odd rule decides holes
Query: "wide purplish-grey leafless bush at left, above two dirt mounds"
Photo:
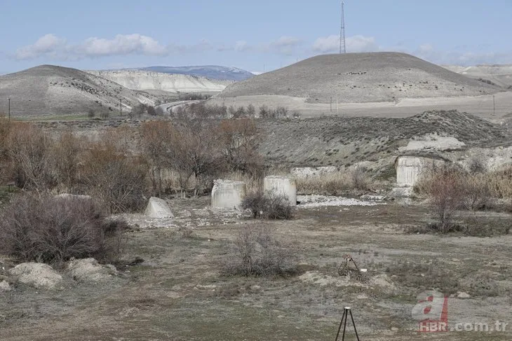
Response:
[{"label": "wide purplish-grey leafless bush at left, above two dirt mounds", "polygon": [[22,261],[62,263],[69,258],[109,261],[121,250],[126,224],[106,222],[84,197],[15,197],[0,215],[0,249]]}]

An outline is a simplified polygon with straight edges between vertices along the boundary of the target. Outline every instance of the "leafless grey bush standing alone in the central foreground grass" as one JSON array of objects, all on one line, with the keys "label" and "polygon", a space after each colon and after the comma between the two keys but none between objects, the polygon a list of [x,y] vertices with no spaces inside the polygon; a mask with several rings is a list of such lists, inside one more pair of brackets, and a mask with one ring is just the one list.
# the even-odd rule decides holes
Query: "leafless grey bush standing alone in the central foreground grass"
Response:
[{"label": "leafless grey bush standing alone in the central foreground grass", "polygon": [[226,275],[287,276],[297,273],[295,257],[268,226],[245,225],[224,260]]}]

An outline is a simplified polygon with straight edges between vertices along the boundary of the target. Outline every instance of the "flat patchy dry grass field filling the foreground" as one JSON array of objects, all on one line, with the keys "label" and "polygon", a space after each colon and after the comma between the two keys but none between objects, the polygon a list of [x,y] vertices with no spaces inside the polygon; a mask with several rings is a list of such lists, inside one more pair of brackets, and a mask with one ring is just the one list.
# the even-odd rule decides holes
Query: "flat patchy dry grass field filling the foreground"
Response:
[{"label": "flat patchy dry grass field filling the foreground", "polygon": [[[409,232],[428,223],[424,206],[297,208],[291,221],[264,222],[299,264],[290,277],[226,277],[224,258],[247,225],[240,214],[207,209],[208,197],[173,200],[175,218],[127,215],[128,262],[99,284],[65,277],[56,291],[0,296],[1,340],[334,340],[350,305],[361,340],[510,340],[504,333],[418,333],[417,295],[450,295],[449,326],[510,322],[512,237]],[[508,214],[463,214],[459,221],[511,224]],[[339,277],[345,254],[368,281]],[[8,259],[1,260],[9,266]],[[3,270],[2,270],[3,271]],[[457,293],[469,298],[457,298]],[[349,329],[351,330],[351,329]],[[349,333],[348,340],[355,340]]]}]

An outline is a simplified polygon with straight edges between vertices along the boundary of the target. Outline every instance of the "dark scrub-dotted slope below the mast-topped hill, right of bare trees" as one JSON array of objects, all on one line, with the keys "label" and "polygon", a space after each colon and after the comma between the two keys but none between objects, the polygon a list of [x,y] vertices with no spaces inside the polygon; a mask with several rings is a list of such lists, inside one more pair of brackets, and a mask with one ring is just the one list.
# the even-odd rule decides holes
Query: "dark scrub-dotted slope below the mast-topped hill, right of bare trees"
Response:
[{"label": "dark scrub-dotted slope below the mast-topped hill, right of bare trees", "polygon": [[270,164],[342,166],[398,155],[411,139],[454,137],[467,147],[508,146],[507,127],[457,111],[430,111],[408,118],[325,117],[259,120],[260,153]]}]

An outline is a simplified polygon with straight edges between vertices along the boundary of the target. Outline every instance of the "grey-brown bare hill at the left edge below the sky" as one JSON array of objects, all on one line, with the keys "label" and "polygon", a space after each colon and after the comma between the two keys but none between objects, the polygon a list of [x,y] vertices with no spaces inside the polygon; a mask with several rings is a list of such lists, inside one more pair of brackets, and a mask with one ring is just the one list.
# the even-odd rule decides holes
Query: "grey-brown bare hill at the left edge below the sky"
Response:
[{"label": "grey-brown bare hill at the left edge below the sky", "polygon": [[53,65],[0,76],[0,98],[11,98],[13,116],[117,111],[119,99],[123,111],[128,111],[139,102],[154,104],[156,99],[84,71]]}]

